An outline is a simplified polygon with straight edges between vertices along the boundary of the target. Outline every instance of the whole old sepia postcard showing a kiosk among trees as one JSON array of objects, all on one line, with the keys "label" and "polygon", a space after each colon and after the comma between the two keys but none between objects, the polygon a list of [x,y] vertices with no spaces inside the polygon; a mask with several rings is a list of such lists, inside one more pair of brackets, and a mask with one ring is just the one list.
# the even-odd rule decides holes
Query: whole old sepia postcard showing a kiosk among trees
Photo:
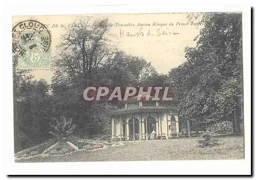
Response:
[{"label": "whole old sepia postcard showing a kiosk among trees", "polygon": [[239,160],[242,12],[13,16],[16,163]]}]

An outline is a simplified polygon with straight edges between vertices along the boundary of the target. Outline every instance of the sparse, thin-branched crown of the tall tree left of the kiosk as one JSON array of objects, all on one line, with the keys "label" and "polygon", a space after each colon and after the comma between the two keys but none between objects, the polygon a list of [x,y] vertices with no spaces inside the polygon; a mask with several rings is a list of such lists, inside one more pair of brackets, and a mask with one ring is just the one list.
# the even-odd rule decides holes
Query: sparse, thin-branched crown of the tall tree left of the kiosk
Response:
[{"label": "sparse, thin-branched crown of the tall tree left of the kiosk", "polygon": [[[73,76],[82,75],[83,84],[86,86],[92,83],[94,70],[104,66],[105,62],[116,53],[116,50],[109,44],[110,26],[108,26],[108,19],[93,21],[88,16],[77,19],[74,24],[81,26],[69,28],[60,38],[60,53],[54,66],[57,67],[55,75],[69,76],[71,73]],[[66,72],[66,69],[59,69],[67,66],[65,64],[67,60],[63,61],[63,59],[70,62],[68,64],[69,72]]]}]

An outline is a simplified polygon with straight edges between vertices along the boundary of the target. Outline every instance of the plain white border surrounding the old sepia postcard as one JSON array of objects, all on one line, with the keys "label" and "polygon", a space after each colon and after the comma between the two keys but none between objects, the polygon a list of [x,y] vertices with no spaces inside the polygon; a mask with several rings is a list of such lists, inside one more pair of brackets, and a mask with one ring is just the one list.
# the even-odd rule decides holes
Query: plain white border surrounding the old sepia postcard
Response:
[{"label": "plain white border surrounding the old sepia postcard", "polygon": [[[2,142],[4,168],[6,174],[250,174],[251,159],[251,63],[250,63],[250,7],[244,6],[199,6],[195,3],[170,3],[151,6],[91,6],[75,5],[75,1],[43,1],[45,8],[35,8],[31,3],[16,2],[7,5],[3,26],[2,47],[2,96],[3,126]],[[61,6],[59,6],[61,2]],[[158,1],[159,2],[159,1]],[[223,1],[221,1],[223,2]],[[40,3],[36,3],[37,6]],[[81,3],[82,4],[82,3]],[[169,4],[169,5],[166,5]],[[42,4],[41,4],[42,5]],[[58,8],[59,6],[59,8]],[[13,104],[12,104],[12,53],[11,16],[40,14],[90,14],[90,13],[168,13],[168,12],[243,12],[243,68],[244,68],[244,119],[245,119],[245,160],[215,161],[155,161],[155,162],[78,162],[78,163],[14,163],[13,155]]]}]

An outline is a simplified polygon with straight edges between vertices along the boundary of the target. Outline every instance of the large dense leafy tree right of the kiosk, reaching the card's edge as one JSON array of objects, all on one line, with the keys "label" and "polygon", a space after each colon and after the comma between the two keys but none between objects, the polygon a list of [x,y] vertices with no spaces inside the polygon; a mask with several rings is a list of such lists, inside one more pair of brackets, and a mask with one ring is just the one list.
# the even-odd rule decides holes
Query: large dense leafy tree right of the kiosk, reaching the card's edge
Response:
[{"label": "large dense leafy tree right of the kiosk, reaching the card's edge", "polygon": [[[186,48],[187,59],[169,72],[181,93],[180,116],[187,120],[231,118],[234,131],[242,122],[242,15],[205,13],[197,46]],[[218,118],[217,118],[218,117]]]}]

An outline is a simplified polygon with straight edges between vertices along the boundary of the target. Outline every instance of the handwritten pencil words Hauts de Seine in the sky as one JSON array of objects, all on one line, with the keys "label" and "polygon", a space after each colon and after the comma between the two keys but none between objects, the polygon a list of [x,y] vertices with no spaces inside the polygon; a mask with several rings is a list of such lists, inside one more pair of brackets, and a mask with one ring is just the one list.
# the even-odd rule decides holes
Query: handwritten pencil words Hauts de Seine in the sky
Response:
[{"label": "handwritten pencil words Hauts de Seine in the sky", "polygon": [[177,35],[179,33],[171,30],[161,30],[157,29],[156,31],[152,32],[150,29],[144,30],[143,28],[140,28],[137,32],[128,32],[125,30],[120,29],[119,35],[120,37],[141,37],[141,36],[169,36],[169,35]]}]

